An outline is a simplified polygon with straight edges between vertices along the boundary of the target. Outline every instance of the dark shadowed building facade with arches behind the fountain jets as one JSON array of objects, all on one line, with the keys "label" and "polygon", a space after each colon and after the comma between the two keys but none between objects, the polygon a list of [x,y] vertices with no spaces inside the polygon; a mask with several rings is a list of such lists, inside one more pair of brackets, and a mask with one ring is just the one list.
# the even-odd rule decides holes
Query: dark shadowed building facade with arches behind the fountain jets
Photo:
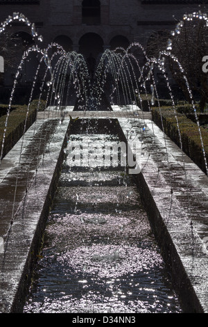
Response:
[{"label": "dark shadowed building facade with arches behind the fountain jets", "polygon": [[[105,49],[146,47],[155,31],[175,29],[185,13],[206,10],[208,0],[0,0],[0,22],[24,14],[43,36],[43,47],[57,42],[67,51],[94,57]],[[13,24],[10,35],[31,45],[28,26]],[[0,54],[1,55],[1,54]]]}]

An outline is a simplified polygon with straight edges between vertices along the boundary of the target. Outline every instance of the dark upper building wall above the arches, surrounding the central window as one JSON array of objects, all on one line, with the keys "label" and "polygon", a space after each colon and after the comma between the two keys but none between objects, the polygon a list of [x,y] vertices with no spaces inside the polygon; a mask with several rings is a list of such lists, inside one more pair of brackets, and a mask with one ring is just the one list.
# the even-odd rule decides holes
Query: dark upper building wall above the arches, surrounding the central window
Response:
[{"label": "dark upper building wall above the arches, surrounding the central window", "polygon": [[[101,25],[86,26],[82,24],[83,0],[40,0],[40,4],[21,4],[20,1],[19,5],[13,2],[5,5],[0,1],[1,22],[15,11],[24,13],[31,22],[37,24],[46,45],[58,35],[67,35],[74,47],[85,33],[98,33],[105,47],[110,45],[111,38],[116,34],[125,36],[129,42],[135,39],[145,42],[151,32],[166,28],[170,22],[174,24],[175,19],[182,18],[184,13],[198,10],[198,4],[142,4],[141,0],[101,0]],[[26,28],[15,26],[13,29],[17,31]]]}]

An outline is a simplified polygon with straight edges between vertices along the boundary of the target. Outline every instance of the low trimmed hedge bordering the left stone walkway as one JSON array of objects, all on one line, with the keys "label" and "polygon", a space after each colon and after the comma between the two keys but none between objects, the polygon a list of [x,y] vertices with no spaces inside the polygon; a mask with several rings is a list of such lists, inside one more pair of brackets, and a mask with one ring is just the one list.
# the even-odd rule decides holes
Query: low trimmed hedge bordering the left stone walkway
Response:
[{"label": "low trimmed hedge bordering the left stone walkway", "polygon": [[[25,123],[26,123],[26,129],[25,129],[26,131],[29,127],[31,127],[31,125],[33,125],[33,122],[35,122],[35,118],[37,114],[37,105],[38,105],[38,100],[33,100],[33,102],[31,102],[29,111],[27,105],[13,106],[12,108],[13,110],[10,111],[10,115],[8,118],[2,158],[6,156],[6,154],[12,149],[12,147],[17,143],[17,141],[19,141],[21,136],[24,134]],[[44,110],[43,101],[40,103],[39,110],[40,109]],[[28,117],[26,119],[27,111],[28,111]],[[0,151],[2,149],[6,117],[7,115],[3,115],[0,117]]]}]

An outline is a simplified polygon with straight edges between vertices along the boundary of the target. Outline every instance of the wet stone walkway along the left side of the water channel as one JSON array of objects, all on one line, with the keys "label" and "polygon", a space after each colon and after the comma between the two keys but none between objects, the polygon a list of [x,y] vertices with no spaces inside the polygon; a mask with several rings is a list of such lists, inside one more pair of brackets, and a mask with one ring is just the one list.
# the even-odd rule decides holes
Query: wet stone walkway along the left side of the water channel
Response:
[{"label": "wet stone walkway along the left side of the water channel", "polygon": [[23,310],[58,182],[68,125],[67,121],[60,125],[59,120],[38,120],[1,161],[0,312]]}]

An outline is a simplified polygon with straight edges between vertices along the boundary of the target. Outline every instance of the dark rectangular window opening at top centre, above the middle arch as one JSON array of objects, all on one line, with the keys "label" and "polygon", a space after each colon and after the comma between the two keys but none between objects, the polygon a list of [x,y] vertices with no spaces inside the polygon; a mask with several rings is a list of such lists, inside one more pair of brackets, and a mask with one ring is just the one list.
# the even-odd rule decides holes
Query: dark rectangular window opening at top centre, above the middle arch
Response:
[{"label": "dark rectangular window opening at top centre, above the middle arch", "polygon": [[98,0],[83,0],[82,4],[83,24],[101,24],[101,3]]}]

